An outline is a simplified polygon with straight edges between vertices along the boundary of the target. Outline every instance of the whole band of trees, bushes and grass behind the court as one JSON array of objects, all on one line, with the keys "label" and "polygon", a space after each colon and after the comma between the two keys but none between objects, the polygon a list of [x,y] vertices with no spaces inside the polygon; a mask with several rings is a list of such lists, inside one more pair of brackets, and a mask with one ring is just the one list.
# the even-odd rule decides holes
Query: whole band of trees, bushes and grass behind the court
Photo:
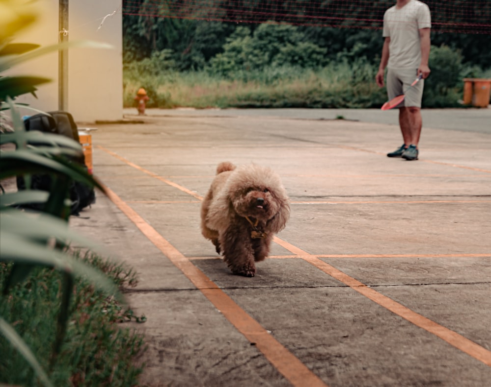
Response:
[{"label": "whole band of trees, bushes and grass behind the court", "polygon": [[[130,3],[133,12],[123,11],[125,106],[134,105],[140,87],[150,97],[147,106],[161,108],[369,108],[380,107],[386,98],[385,89],[374,81],[382,51],[381,25],[361,21],[380,20],[394,1],[360,8],[360,1],[169,0],[155,5],[138,0],[126,1],[124,10],[130,9]],[[338,27],[281,19],[319,17],[320,3],[323,12],[329,8]],[[200,17],[192,9],[198,4],[215,12],[215,17]],[[348,15],[338,15],[347,7]],[[471,20],[476,9],[467,5],[465,13],[456,15],[448,8],[446,4],[445,12],[435,15],[425,107],[461,106],[462,78],[491,73],[491,51],[484,49],[490,35],[440,32],[442,25],[460,23],[463,16]],[[240,20],[239,13],[270,19],[267,23]]]}]

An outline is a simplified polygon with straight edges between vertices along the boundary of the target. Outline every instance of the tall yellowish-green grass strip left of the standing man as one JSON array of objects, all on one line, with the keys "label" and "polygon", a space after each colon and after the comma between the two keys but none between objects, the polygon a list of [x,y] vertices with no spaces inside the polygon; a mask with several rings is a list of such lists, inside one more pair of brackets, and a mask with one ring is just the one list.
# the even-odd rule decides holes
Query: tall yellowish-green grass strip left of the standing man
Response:
[{"label": "tall yellowish-green grass strip left of the standing man", "polygon": [[143,87],[150,97],[148,107],[380,107],[386,94],[374,79],[375,69],[364,61],[320,69],[267,67],[233,76],[168,69],[145,75],[133,66],[124,72],[124,105],[135,106],[136,91]]}]

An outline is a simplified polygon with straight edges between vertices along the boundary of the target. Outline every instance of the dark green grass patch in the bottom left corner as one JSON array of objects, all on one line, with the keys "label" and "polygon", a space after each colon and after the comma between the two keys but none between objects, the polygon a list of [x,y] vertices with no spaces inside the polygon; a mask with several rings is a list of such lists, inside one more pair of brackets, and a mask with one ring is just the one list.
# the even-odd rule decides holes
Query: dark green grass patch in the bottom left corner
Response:
[{"label": "dark green grass patch in the bottom left corner", "polygon": [[[78,259],[104,271],[120,288],[136,286],[136,275],[126,265],[95,254],[76,253]],[[11,264],[0,263],[0,287]],[[12,288],[0,302],[0,315],[26,341],[45,370],[49,369],[56,320],[60,310],[62,275],[35,268],[29,278]],[[55,386],[135,386],[142,367],[136,359],[144,351],[143,336],[120,324],[144,321],[86,280],[77,278],[61,352],[48,376]],[[0,382],[37,385],[25,359],[0,336]]]}]

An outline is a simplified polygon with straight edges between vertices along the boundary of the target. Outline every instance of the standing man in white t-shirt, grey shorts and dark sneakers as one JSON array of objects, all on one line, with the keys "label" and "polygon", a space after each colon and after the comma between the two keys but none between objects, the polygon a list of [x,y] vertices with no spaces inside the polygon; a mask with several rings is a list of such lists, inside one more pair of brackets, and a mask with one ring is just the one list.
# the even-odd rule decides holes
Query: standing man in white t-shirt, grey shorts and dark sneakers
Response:
[{"label": "standing man in white t-shirt, grey shorts and dark sneakers", "polygon": [[[387,95],[389,100],[403,94],[418,75],[423,79],[430,75],[430,8],[418,0],[397,0],[383,15],[382,58],[375,77],[382,87],[387,68]],[[399,126],[404,144],[388,157],[418,159],[418,143],[423,121],[421,99],[424,81],[421,79],[407,93],[399,108]]]}]

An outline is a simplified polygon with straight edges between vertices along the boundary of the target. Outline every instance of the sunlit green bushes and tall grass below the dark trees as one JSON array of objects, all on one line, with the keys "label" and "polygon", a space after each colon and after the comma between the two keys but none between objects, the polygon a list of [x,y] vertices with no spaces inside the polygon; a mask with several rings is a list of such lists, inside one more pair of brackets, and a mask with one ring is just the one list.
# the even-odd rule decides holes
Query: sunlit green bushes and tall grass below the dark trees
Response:
[{"label": "sunlit green bushes and tall grass below the dark trees", "polygon": [[[310,31],[312,33],[312,31]],[[320,31],[318,31],[320,32]],[[346,32],[345,30],[341,32]],[[335,41],[334,35],[329,39]],[[336,52],[311,43],[307,31],[288,24],[238,26],[225,38],[220,52],[195,69],[170,48],[153,51],[149,58],[124,64],[124,104],[132,106],[136,90],[144,87],[148,107],[311,107],[376,108],[386,99],[375,85],[378,47],[358,31],[347,36]],[[491,69],[465,62],[460,50],[433,46],[432,75],[426,80],[424,107],[459,107],[464,77],[489,77]]]}]

